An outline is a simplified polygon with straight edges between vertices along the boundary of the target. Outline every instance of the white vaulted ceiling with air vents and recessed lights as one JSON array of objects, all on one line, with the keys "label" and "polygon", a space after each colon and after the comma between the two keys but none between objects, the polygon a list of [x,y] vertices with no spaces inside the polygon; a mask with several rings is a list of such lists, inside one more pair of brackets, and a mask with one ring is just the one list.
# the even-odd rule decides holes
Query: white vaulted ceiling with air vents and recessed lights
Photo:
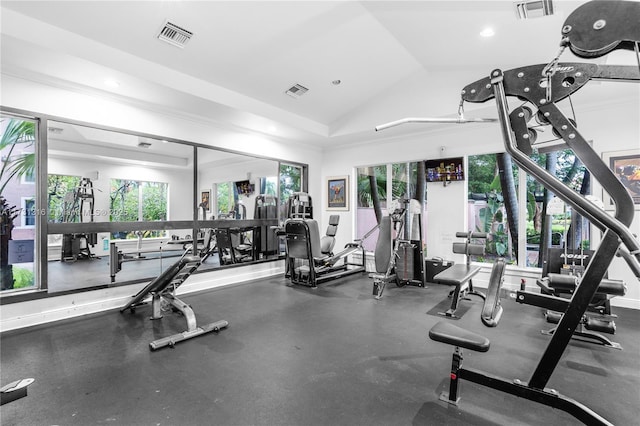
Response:
[{"label": "white vaulted ceiling with air vents and recessed lights", "polygon": [[[582,3],[522,20],[508,0],[2,0],[0,58],[6,75],[326,148],[407,116],[455,116],[466,84],[553,59]],[[157,38],[167,20],[193,34],[184,47]],[[287,95],[295,84],[308,92]],[[478,114],[495,116],[466,110]]]}]

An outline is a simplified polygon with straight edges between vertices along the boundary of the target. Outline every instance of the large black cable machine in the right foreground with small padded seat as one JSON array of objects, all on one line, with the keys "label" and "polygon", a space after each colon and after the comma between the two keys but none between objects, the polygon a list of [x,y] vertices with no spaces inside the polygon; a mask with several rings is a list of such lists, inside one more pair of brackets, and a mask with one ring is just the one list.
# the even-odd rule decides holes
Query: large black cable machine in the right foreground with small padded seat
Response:
[{"label": "large black cable machine in the right foreground with small padded seat", "polygon": [[[565,411],[590,425],[609,425],[605,418],[589,407],[546,387],[574,332],[598,292],[609,265],[616,254],[624,258],[633,273],[640,278],[640,244],[629,230],[634,218],[634,203],[616,175],[604,164],[587,140],[578,132],[575,122],[567,118],[556,102],[583,87],[591,79],[640,81],[638,66],[612,66],[583,63],[560,63],[562,51],[569,47],[580,57],[596,58],[616,49],[640,51],[640,3],[631,1],[591,1],[579,6],[569,15],[562,27],[561,50],[549,64],[533,65],[509,71],[495,69],[490,76],[466,86],[462,91],[462,103],[482,103],[495,99],[498,120],[505,149],[514,161],[527,173],[550,189],[557,197],[587,218],[602,232],[598,249],[573,296],[560,307],[563,312],[558,328],[551,337],[540,361],[528,382],[507,380],[478,370],[462,368],[462,348],[478,352],[489,350],[487,338],[457,327],[450,322],[439,322],[429,332],[431,339],[455,346],[451,369],[451,385],[443,398],[457,404],[457,384],[461,379],[474,382],[501,392],[529,399]],[[562,184],[554,175],[529,158],[534,146],[533,132],[527,122],[532,117],[523,106],[511,113],[507,96],[518,98],[537,107],[536,116],[552,126],[554,133],[570,147],[575,155],[599,181],[603,189],[615,200],[615,215],[611,216],[583,195]],[[462,104],[461,104],[462,106]],[[415,121],[415,120],[411,120]],[[401,120],[382,127],[410,122]],[[562,143],[562,142],[560,142]],[[495,284],[489,294],[495,292]],[[517,298],[529,293],[519,291]],[[499,292],[496,293],[496,297]],[[540,299],[557,297],[536,294]],[[485,300],[485,306],[489,302]],[[495,309],[494,309],[495,311]],[[497,321],[496,321],[497,322]]]}]

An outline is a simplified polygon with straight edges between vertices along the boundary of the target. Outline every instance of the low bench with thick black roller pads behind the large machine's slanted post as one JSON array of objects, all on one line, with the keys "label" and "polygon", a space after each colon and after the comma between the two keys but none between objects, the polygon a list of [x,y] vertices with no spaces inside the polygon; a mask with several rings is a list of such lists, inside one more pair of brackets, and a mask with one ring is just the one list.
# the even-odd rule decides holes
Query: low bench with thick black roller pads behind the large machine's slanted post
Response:
[{"label": "low bench with thick black roller pads behind the large machine's slanted post", "polygon": [[[536,281],[543,294],[561,297],[562,295],[573,294],[579,285],[579,278],[574,275],[549,273],[546,277]],[[598,285],[596,294],[591,299],[587,311],[597,314],[599,317],[591,315],[582,316],[578,327],[573,333],[573,338],[598,343],[614,349],[622,349],[619,343],[612,342],[599,333],[616,333],[616,324],[613,318],[616,315],[611,313],[609,299],[614,296],[624,296],[627,292],[626,284],[621,280],[603,279]],[[545,317],[548,322],[558,324],[562,318],[562,313],[554,310],[547,310]],[[550,330],[542,330],[542,334],[553,335],[557,327]]]}]

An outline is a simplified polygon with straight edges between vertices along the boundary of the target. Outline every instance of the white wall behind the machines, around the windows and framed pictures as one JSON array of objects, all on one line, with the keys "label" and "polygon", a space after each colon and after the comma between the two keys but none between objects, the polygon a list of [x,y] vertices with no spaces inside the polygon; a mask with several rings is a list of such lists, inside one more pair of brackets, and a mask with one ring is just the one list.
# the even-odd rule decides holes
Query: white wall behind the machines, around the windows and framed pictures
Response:
[{"label": "white wall behind the machines, around the windows and framed pictures", "polygon": [[[596,84],[593,90],[602,92],[605,96],[607,89],[612,87],[611,84],[614,83]],[[626,96],[613,100],[605,96],[603,99],[608,101],[598,106],[583,106],[578,102],[579,99],[573,100],[578,129],[586,139],[593,140],[594,149],[598,153],[640,149],[640,87],[632,84],[627,84],[625,87]],[[564,107],[563,111],[571,114],[566,108]],[[494,113],[492,116],[495,115]],[[398,118],[401,117],[390,113],[390,119]],[[431,128],[429,124],[409,126],[413,126],[414,129],[422,126],[424,130],[409,136],[395,136],[391,130],[390,134],[393,136],[386,140],[378,140],[372,136],[370,141],[363,140],[356,146],[332,148],[331,161],[323,164],[321,173],[323,179],[327,176],[345,174],[351,176],[351,205],[353,206],[356,201],[355,167],[504,151],[497,124],[452,124],[448,127],[433,126]],[[541,140],[546,140],[546,137]],[[461,182],[452,183],[447,187],[442,184],[428,185],[426,243],[430,257],[440,256],[456,260],[450,251],[450,237],[456,231],[466,229],[466,204],[462,204],[466,200],[466,193],[466,185]],[[594,183],[593,193],[601,196],[602,188],[599,184]],[[324,202],[326,196],[326,189],[323,188],[323,210],[321,214],[317,214],[323,221],[320,229],[328,223],[329,214],[335,214],[333,211],[326,211],[326,202]],[[339,212],[341,221],[336,236],[336,247],[342,247],[355,238],[354,212],[354,208],[349,212]],[[631,230],[637,235],[640,235],[639,216],[640,211],[636,209]],[[592,234],[596,235],[594,242],[597,243],[599,231],[594,229]],[[522,273],[511,270],[510,274],[513,276],[507,279],[507,283],[512,281],[514,286],[519,285],[518,274]],[[628,286],[627,295],[624,298],[614,298],[612,303],[640,309],[640,283],[622,260],[616,259],[612,263],[609,275],[611,278],[624,280]],[[479,279],[482,282],[482,277]],[[488,279],[488,272],[486,279]],[[528,283],[535,285],[535,281],[528,280]]]}]

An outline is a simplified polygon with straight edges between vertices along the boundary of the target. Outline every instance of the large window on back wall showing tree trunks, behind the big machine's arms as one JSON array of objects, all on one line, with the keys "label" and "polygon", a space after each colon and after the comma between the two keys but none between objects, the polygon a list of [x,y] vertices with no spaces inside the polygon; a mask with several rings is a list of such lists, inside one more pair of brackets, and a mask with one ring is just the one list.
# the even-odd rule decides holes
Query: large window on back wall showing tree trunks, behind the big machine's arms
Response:
[{"label": "large window on back wall showing tree trunks, behind the big machine's arms", "polygon": [[[532,159],[565,185],[589,194],[589,175],[570,149],[535,153]],[[507,154],[469,156],[468,176],[469,230],[488,234],[486,256],[475,260],[491,262],[504,257],[521,266],[541,267],[546,248],[589,248],[588,221],[560,200],[554,200],[553,194],[531,176],[526,175],[526,184],[520,187],[519,169]],[[555,207],[549,209],[552,200]],[[521,220],[525,221],[522,225]],[[522,256],[518,254],[521,233],[526,235]]]}]

